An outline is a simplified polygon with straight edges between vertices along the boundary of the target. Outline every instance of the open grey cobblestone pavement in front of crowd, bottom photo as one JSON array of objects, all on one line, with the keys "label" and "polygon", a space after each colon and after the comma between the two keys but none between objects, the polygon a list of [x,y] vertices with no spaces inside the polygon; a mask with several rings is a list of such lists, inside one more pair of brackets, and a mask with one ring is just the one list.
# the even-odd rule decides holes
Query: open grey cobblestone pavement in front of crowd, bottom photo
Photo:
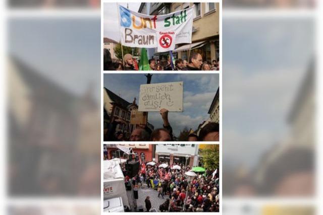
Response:
[{"label": "open grey cobblestone pavement in front of crowd, bottom photo", "polygon": [[[127,191],[128,195],[128,200],[129,204],[132,204],[132,196],[131,196],[131,191]],[[144,212],[146,212],[146,207],[145,207],[145,199],[146,197],[150,197],[150,202],[151,202],[151,209],[155,208],[158,212],[159,211],[159,205],[163,204],[167,196],[164,196],[164,199],[159,196],[158,198],[158,192],[157,190],[154,190],[152,188],[147,188],[147,184],[144,184],[144,188],[138,188],[138,199],[137,199],[137,206],[142,205],[144,208]]]}]

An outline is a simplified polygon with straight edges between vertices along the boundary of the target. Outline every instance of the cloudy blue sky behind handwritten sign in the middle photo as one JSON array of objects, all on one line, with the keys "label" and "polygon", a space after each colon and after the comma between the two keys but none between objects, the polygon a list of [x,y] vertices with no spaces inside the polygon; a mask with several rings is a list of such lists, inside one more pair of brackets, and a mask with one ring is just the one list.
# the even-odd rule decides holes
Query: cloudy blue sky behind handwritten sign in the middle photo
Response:
[{"label": "cloudy blue sky behind handwritten sign in the middle photo", "polygon": [[[217,74],[153,74],[151,84],[184,82],[184,112],[170,112],[169,120],[176,136],[187,126],[196,129],[208,118],[207,111],[219,87]],[[104,74],[103,85],[128,102],[139,98],[139,87],[146,84],[144,74]],[[149,112],[148,122],[162,127],[159,113]]]}]

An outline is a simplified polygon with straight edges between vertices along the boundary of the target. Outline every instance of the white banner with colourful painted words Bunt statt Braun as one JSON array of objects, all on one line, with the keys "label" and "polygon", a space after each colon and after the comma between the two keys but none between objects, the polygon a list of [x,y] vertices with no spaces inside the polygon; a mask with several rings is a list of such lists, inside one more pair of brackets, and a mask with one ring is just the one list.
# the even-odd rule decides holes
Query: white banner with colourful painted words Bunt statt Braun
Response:
[{"label": "white banner with colourful painted words Bunt statt Braun", "polygon": [[149,16],[118,5],[121,44],[164,52],[174,50],[176,44],[192,43],[193,9]]}]

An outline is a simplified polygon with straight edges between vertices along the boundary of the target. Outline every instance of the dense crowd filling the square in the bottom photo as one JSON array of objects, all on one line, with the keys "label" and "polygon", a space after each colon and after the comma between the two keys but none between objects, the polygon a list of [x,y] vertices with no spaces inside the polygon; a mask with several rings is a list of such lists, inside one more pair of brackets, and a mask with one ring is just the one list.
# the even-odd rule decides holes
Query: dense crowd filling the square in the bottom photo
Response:
[{"label": "dense crowd filling the square in the bottom photo", "polygon": [[[166,201],[159,205],[159,211],[165,212],[218,212],[219,211],[219,171],[205,170],[197,173],[194,180],[189,183],[185,173],[192,169],[191,166],[174,163],[167,168],[158,168],[161,162],[154,166],[141,164],[137,176],[125,178],[126,183],[131,183],[138,188],[154,189],[158,198]],[[180,170],[173,169],[178,165]],[[131,182],[132,181],[132,182]],[[186,196],[187,195],[187,196]],[[151,209],[150,196],[145,199],[146,211]]]}]

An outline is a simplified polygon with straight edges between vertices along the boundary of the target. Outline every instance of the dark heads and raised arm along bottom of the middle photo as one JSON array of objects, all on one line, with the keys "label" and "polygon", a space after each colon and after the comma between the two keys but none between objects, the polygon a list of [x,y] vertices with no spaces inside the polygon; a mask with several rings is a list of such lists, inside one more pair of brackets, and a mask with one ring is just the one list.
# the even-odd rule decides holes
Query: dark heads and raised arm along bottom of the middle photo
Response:
[{"label": "dark heads and raised arm along bottom of the middle photo", "polygon": [[[116,132],[118,124],[127,124],[123,119],[112,119],[104,125],[104,141],[174,141],[173,128],[168,120],[168,110],[160,110],[163,128],[151,130],[147,125],[139,125],[129,135]],[[197,132],[191,132],[186,141],[219,141],[219,123],[209,122]]]}]

